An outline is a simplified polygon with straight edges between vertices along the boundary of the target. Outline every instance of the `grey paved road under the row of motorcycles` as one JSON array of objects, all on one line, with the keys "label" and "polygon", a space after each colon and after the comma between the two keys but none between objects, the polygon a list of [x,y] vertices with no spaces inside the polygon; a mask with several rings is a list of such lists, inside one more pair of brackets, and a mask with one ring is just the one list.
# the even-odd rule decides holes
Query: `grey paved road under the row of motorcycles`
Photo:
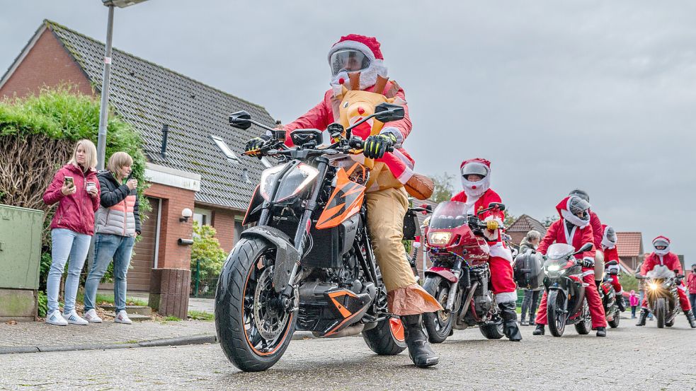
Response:
[{"label": "grey paved road under the row of motorcycles", "polygon": [[292,341],[263,373],[242,373],[217,344],[0,356],[0,389],[104,390],[694,390],[696,329],[622,319],[602,339],[487,341],[467,329],[435,346],[440,364],[418,369],[404,352],[376,356],[360,337]]}]

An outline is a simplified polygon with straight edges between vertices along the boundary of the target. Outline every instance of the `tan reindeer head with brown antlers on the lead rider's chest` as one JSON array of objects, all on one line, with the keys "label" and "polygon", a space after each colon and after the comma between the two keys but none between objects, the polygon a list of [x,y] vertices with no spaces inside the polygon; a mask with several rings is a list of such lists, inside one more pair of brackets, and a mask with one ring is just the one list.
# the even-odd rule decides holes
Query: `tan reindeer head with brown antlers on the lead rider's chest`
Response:
[{"label": "tan reindeer head with brown antlers on the lead rider's chest", "polygon": [[[397,105],[406,103],[401,98],[387,98],[382,95],[382,93],[360,91],[360,72],[350,74],[349,77],[351,89],[348,90],[346,86],[341,85],[340,91],[337,88],[337,91],[334,92],[335,97],[341,100],[338,106],[338,122],[341,123],[344,128],[350,127],[355,124],[355,122],[360,121],[360,119],[374,114],[375,107],[380,103],[396,103]],[[387,78],[377,76],[375,91],[384,91],[386,85]],[[362,139],[367,139],[367,136],[379,134],[382,127],[384,127],[384,122],[372,118],[354,128],[353,134],[355,134],[355,136],[360,136]]]}]

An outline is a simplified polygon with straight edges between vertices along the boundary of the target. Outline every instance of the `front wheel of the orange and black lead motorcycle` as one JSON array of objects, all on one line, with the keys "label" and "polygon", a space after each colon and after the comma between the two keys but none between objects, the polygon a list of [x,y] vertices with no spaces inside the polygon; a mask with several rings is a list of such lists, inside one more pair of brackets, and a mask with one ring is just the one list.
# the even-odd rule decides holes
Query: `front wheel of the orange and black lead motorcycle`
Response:
[{"label": "front wheel of the orange and black lead motorcycle", "polygon": [[275,247],[262,238],[239,240],[222,267],[215,291],[215,329],[234,366],[258,372],[285,353],[295,316],[278,305],[273,288]]}]

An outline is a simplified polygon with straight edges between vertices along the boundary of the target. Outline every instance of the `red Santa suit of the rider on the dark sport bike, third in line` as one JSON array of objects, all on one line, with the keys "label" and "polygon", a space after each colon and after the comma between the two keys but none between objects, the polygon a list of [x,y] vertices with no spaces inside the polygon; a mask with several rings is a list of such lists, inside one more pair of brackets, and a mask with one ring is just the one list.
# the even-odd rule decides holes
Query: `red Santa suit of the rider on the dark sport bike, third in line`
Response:
[{"label": "red Santa suit of the rider on the dark sport bike, third in line", "polygon": [[[560,220],[554,221],[554,223],[549,226],[546,231],[546,235],[539,243],[537,247],[537,252],[546,255],[546,250],[553,243],[565,243],[572,245],[575,250],[580,250],[586,243],[593,243],[593,232],[592,226],[588,223],[586,226],[576,226],[573,225],[572,228],[568,228],[566,224],[566,217],[569,217],[569,200],[571,197],[566,197],[556,206],[558,214],[561,216]],[[583,259],[595,259],[595,250],[589,250],[581,254]],[[592,328],[597,327],[607,327],[607,320],[605,319],[604,307],[602,305],[602,300],[599,297],[599,292],[597,291],[597,286],[595,286],[595,276],[593,267],[583,267],[583,281],[588,284],[585,287],[585,296],[587,298],[587,303],[590,307],[590,315],[592,317]],[[542,302],[539,305],[539,312],[537,313],[537,319],[535,322],[537,325],[547,325],[547,292],[544,291],[544,296],[542,296]]]}]

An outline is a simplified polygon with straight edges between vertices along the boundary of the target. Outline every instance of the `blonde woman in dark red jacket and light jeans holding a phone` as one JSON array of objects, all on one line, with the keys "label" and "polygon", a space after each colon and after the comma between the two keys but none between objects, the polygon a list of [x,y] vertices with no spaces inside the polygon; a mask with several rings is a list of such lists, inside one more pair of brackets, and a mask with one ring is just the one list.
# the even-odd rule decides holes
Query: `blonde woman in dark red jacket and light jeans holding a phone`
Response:
[{"label": "blonde woman in dark red jacket and light jeans holding a phone", "polygon": [[[51,269],[46,282],[48,311],[46,322],[51,325],[86,325],[87,321],[75,312],[75,296],[80,273],[94,234],[94,212],[99,208],[99,181],[94,166],[96,147],[89,140],[77,141],[72,158],[53,176],[43,194],[47,205],[58,203],[51,221]],[[61,315],[58,305],[60,278],[70,258],[65,280],[65,305]]]}]

